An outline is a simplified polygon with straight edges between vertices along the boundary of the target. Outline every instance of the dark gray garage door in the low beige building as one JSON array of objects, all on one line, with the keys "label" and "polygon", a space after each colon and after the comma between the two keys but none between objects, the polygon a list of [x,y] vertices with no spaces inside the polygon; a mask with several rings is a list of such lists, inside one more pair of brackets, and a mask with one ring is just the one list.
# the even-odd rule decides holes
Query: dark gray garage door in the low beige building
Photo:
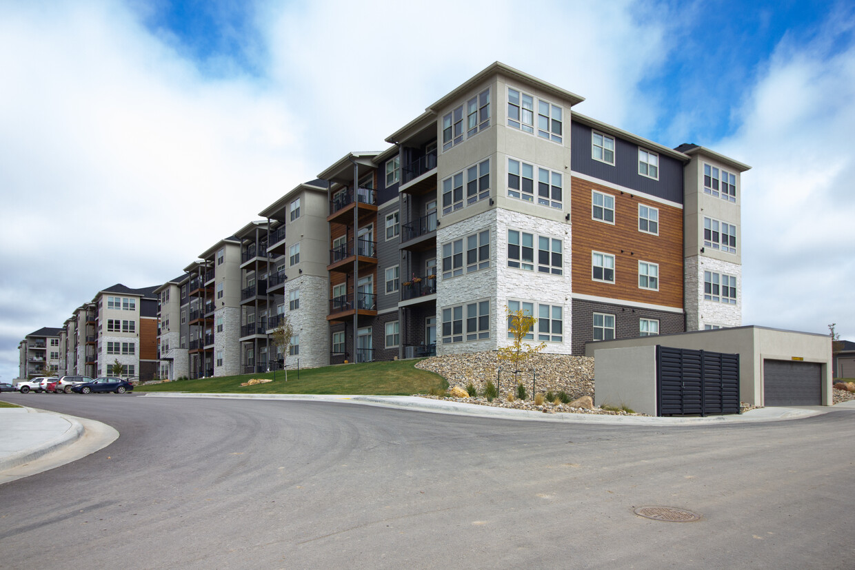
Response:
[{"label": "dark gray garage door in the low beige building", "polygon": [[821,374],[818,362],[764,360],[764,402],[767,406],[819,406]]}]

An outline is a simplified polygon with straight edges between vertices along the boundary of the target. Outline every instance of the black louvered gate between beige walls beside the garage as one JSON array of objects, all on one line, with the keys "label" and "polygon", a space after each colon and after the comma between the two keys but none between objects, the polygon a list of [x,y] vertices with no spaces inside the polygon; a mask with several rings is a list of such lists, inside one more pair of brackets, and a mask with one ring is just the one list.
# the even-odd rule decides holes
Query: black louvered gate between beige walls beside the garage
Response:
[{"label": "black louvered gate between beige walls beside the garage", "polygon": [[656,347],[657,415],[740,413],[740,356]]}]

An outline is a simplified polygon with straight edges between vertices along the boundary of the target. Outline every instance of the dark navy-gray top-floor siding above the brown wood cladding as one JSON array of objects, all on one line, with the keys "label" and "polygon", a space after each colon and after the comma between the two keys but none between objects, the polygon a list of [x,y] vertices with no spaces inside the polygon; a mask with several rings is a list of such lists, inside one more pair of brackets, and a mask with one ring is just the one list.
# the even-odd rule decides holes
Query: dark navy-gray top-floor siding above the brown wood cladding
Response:
[{"label": "dark navy-gray top-floor siding above the brown wood cladding", "polygon": [[642,176],[638,170],[639,145],[615,137],[615,165],[591,157],[591,127],[573,121],[570,160],[575,172],[587,174],[630,190],[683,203],[683,163],[659,153],[659,179]]}]

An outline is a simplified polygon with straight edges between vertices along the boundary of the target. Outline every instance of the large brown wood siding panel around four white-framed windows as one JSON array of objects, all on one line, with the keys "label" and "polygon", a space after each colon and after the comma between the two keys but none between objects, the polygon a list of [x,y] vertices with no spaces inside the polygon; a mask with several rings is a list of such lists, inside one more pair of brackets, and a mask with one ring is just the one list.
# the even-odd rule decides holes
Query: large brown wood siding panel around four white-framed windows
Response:
[{"label": "large brown wood siding panel around four white-framed windows", "polygon": [[[683,306],[683,211],[637,194],[574,178],[573,292],[665,307]],[[591,218],[592,191],[615,197],[614,225]],[[639,203],[659,210],[659,235],[639,232]],[[591,252],[615,256],[615,283],[591,279]],[[659,291],[638,286],[639,261],[659,264]]]}]

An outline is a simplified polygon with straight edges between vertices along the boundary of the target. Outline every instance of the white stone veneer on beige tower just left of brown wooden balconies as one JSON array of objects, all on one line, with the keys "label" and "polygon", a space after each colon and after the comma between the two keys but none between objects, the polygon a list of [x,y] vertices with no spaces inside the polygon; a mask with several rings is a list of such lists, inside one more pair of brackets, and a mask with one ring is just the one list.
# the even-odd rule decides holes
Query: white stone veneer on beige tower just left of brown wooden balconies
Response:
[{"label": "white stone veneer on beige tower just left of brown wooden balconies", "polygon": [[[291,291],[300,290],[300,307],[288,310]],[[327,312],[329,309],[329,281],[326,277],[315,275],[298,275],[285,283],[285,314],[294,329],[294,334],[300,335],[299,356],[289,356],[286,349],[286,365],[297,367],[300,359],[301,368],[314,368],[329,364],[330,345]]]}]

